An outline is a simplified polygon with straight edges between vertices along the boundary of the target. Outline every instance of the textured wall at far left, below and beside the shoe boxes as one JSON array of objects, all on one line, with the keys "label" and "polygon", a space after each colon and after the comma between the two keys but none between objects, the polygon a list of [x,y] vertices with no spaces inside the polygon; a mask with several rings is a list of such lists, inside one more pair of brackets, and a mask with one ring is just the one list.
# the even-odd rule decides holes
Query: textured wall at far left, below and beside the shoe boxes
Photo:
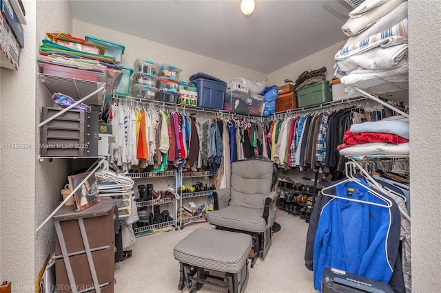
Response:
[{"label": "textured wall at far left, below and beside the shoe boxes", "polygon": [[13,292],[34,288],[35,192],[35,0],[23,1],[27,25],[20,69],[0,69],[3,144],[26,144],[30,149],[0,149],[0,276],[14,285]]}]

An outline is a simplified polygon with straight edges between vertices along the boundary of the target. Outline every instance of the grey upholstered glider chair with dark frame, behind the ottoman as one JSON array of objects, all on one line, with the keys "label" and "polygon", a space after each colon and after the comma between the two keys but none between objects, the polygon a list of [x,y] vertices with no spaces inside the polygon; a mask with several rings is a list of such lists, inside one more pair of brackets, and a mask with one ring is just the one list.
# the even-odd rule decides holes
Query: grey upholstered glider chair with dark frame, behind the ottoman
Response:
[{"label": "grey upholstered glider chair with dark frame, behind the ottoman", "polygon": [[217,196],[214,193],[215,210],[207,215],[207,221],[216,229],[252,235],[252,268],[259,256],[265,258],[271,246],[271,226],[276,219],[276,182],[277,168],[267,158],[234,162],[231,188],[216,191]]}]

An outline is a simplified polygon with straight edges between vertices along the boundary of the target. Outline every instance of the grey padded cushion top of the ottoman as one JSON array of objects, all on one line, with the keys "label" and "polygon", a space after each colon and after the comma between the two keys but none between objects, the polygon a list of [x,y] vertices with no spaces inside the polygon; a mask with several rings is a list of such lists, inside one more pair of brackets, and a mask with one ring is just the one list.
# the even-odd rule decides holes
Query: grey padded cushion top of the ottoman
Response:
[{"label": "grey padded cushion top of the ottoman", "polygon": [[237,273],[247,261],[252,237],[236,232],[198,228],[174,246],[174,258],[207,270]]}]

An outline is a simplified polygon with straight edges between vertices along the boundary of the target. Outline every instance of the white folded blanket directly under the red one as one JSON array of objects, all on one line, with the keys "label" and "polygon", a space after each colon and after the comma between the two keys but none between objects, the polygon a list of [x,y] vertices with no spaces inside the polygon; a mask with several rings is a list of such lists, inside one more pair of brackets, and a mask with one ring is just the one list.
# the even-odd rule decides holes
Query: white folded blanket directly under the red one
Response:
[{"label": "white folded blanket directly under the red one", "polygon": [[340,155],[409,155],[409,142],[389,144],[387,142],[368,142],[341,149]]}]

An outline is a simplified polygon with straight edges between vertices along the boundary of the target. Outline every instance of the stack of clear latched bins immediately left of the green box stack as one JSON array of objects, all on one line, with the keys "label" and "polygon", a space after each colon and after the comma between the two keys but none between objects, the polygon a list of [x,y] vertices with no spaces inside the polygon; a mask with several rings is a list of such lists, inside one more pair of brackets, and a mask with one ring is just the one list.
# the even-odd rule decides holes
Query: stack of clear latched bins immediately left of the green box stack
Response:
[{"label": "stack of clear latched bins immediately left of the green box stack", "polygon": [[178,100],[178,78],[182,69],[174,65],[161,64],[159,69],[158,100],[176,103]]}]

